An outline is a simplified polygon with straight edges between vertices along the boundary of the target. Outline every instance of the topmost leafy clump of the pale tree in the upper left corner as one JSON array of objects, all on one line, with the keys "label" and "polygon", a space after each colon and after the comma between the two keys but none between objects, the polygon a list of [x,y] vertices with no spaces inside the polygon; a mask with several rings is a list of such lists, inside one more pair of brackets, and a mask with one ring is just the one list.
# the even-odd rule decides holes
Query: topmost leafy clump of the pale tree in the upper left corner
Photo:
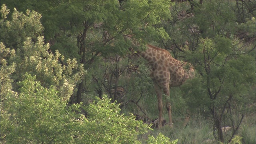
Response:
[{"label": "topmost leafy clump of the pale tree in the upper left corner", "polygon": [[[10,17],[9,12],[6,5],[1,6],[1,42],[6,47],[17,50],[25,41],[28,41],[27,38],[36,41],[43,30],[40,22],[41,14],[30,10],[23,14],[14,8]],[[20,52],[23,54],[22,50]]]}]

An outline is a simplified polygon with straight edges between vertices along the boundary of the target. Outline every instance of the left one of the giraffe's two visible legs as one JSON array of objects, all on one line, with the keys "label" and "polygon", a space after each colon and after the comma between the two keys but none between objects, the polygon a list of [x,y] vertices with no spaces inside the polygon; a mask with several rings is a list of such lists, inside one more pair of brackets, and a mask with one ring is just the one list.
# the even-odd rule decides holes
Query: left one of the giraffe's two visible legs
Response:
[{"label": "left one of the giraffe's two visible legs", "polygon": [[154,88],[157,95],[157,101],[158,101],[158,128],[162,127],[162,114],[163,114],[163,101],[162,101],[162,89],[158,84],[154,83]]}]

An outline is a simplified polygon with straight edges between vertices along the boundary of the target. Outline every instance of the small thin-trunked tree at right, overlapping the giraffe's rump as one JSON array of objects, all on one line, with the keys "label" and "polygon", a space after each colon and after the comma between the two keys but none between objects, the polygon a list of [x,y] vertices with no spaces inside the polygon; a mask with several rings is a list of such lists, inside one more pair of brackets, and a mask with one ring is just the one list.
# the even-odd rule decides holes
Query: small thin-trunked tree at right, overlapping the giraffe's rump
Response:
[{"label": "small thin-trunked tree at right, overlapping the giraffe's rump", "polygon": [[230,141],[244,118],[247,95],[255,84],[255,58],[225,37],[200,41],[192,54],[200,75],[183,86],[190,95],[187,102],[208,108],[214,136],[220,142],[224,142],[222,127],[232,126]]}]

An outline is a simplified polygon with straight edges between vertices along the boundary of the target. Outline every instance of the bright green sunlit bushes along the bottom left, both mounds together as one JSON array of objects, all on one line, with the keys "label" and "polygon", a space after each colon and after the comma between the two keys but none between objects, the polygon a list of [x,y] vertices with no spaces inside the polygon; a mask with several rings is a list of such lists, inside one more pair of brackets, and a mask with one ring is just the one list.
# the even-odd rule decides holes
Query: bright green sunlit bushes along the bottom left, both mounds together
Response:
[{"label": "bright green sunlit bushes along the bottom left, both mounds together", "polygon": [[4,100],[1,108],[1,143],[139,143],[138,134],[150,128],[134,116],[120,114],[120,108],[106,96],[84,107],[86,118],[76,114],[79,105],[66,106],[58,91],[44,88],[26,74],[20,93]]}]

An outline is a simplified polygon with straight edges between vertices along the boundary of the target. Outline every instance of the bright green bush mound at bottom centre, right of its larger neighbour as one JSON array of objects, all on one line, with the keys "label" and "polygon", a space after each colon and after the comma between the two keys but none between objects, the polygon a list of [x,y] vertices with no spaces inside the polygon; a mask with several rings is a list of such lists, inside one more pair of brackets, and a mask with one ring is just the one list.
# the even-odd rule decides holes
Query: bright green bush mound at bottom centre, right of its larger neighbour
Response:
[{"label": "bright green bush mound at bottom centre, right of its larger neighbour", "polygon": [[88,113],[87,122],[79,128],[78,141],[94,143],[139,143],[137,136],[149,130],[147,124],[136,121],[135,116],[120,114],[119,105],[110,103],[103,95],[89,106],[84,107]]}]

